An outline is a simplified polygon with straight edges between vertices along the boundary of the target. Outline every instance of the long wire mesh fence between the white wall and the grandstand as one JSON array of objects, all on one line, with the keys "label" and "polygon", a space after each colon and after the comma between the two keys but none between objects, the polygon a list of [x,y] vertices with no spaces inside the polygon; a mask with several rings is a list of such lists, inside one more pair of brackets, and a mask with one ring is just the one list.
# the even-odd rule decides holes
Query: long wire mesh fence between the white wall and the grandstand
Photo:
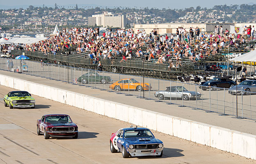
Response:
[{"label": "long wire mesh fence between the white wall and the grandstand", "polygon": [[[223,88],[209,87],[202,89],[201,86],[191,83],[58,64],[0,58],[0,69],[6,71],[15,71],[16,69],[17,71],[17,68],[19,68],[18,71],[22,71],[25,74],[69,82],[81,87],[92,87],[168,104],[191,107],[192,109],[202,109],[206,112],[256,120],[255,92],[243,91],[244,94],[238,95],[236,100],[236,95],[228,93],[228,89]],[[130,79],[133,80],[129,81]],[[125,81],[118,82],[120,80]],[[136,83],[134,83],[134,80],[136,80]],[[168,87],[171,87],[171,95]],[[176,89],[172,90],[173,88]]]}]

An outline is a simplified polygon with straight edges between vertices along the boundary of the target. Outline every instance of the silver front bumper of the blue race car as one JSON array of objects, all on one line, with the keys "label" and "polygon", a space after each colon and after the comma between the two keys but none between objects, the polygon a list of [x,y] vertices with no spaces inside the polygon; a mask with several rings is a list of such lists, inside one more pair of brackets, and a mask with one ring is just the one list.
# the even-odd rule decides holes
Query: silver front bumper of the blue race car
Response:
[{"label": "silver front bumper of the blue race car", "polygon": [[151,156],[151,155],[160,155],[161,151],[164,148],[156,148],[156,149],[130,149],[128,151],[132,157],[141,157],[141,156]]}]

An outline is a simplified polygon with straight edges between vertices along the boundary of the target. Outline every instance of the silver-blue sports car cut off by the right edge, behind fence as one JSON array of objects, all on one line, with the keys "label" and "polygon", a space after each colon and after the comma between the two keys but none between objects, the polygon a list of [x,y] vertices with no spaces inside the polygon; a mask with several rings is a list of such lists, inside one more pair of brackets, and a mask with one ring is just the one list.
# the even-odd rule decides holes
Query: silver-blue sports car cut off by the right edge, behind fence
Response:
[{"label": "silver-blue sports car cut off by the right edge, behind fence", "polygon": [[249,95],[251,92],[256,92],[256,80],[244,80],[238,84],[238,91],[236,92],[236,86],[228,89],[228,93],[235,95],[240,95],[241,92],[243,95]]}]

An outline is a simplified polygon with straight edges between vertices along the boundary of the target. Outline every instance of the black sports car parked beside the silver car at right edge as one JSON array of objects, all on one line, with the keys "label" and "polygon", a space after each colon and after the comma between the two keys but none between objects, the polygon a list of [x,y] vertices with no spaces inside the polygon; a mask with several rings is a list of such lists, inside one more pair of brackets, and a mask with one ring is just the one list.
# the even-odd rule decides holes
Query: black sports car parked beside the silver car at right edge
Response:
[{"label": "black sports car parked beside the silver car at right edge", "polygon": [[212,80],[208,82],[200,82],[199,85],[199,88],[205,91],[206,89],[210,89],[210,86],[212,87],[213,90],[217,90],[217,87],[230,88],[236,85],[236,82],[226,77],[214,77]]}]

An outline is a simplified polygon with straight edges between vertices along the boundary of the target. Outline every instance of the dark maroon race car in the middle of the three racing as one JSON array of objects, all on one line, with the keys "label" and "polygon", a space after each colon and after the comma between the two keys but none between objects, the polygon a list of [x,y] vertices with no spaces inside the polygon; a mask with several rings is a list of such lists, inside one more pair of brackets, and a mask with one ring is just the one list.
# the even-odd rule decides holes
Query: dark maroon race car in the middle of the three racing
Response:
[{"label": "dark maroon race car in the middle of the three racing", "polygon": [[67,114],[46,114],[37,120],[37,134],[50,137],[78,137],[78,127]]}]

